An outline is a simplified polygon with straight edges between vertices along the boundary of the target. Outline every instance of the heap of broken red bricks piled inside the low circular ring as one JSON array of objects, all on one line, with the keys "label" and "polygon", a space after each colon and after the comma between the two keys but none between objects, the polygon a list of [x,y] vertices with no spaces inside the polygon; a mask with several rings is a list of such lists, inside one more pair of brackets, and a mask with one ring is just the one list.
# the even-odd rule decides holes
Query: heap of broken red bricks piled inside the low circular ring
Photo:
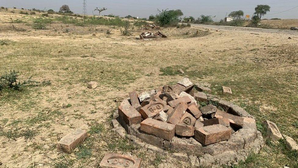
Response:
[{"label": "heap of broken red bricks piled inside the low circular ring", "polygon": [[174,136],[193,137],[204,145],[229,140],[242,128],[245,117],[212,104],[200,106],[196,101],[203,99],[200,93],[188,78],[139,95],[130,92],[118,108],[120,123],[140,124],[141,131],[168,141]]}]

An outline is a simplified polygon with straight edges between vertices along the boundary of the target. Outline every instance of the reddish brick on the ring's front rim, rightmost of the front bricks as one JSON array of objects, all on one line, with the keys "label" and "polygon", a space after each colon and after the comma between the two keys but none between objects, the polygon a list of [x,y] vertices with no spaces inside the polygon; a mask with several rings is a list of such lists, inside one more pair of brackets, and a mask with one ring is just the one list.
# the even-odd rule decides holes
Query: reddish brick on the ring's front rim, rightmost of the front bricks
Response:
[{"label": "reddish brick on the ring's front rim, rightmost of the front bricks", "polygon": [[231,129],[220,124],[196,128],[194,131],[194,139],[204,145],[228,140],[230,137]]}]

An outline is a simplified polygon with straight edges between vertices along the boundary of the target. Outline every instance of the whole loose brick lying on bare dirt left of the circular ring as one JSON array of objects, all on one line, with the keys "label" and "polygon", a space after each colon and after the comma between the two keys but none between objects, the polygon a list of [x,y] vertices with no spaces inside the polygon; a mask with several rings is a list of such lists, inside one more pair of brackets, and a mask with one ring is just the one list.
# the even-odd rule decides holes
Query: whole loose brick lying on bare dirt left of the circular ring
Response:
[{"label": "whole loose brick lying on bare dirt left of the circular ring", "polygon": [[62,137],[57,144],[57,151],[71,153],[75,147],[88,137],[88,133],[82,129],[72,130]]}]

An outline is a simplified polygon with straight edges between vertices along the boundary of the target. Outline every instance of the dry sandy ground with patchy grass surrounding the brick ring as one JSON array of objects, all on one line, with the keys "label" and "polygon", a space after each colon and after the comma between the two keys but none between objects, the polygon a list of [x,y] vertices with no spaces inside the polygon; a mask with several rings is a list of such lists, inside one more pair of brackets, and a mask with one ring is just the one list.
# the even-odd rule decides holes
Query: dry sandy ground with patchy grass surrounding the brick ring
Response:
[{"label": "dry sandy ground with patchy grass surrounding the brick ring", "polygon": [[[190,167],[111,131],[116,99],[184,77],[210,83],[213,94],[253,114],[259,130],[270,120],[298,142],[298,33],[251,34],[201,25],[162,28],[167,39],[143,41],[135,39],[142,30],[123,36],[118,27],[59,22],[35,30],[30,19],[11,23],[9,15],[23,17],[0,11],[0,40],[7,41],[0,45],[0,74],[16,70],[20,81],[31,77],[50,84],[0,92],[2,167],[98,167],[107,152],[140,157],[142,167]],[[88,89],[89,81],[99,87]],[[221,86],[232,88],[233,95],[222,95]],[[75,128],[88,130],[90,137],[72,154],[57,152],[57,141]],[[296,167],[297,159],[284,142],[265,140],[259,154],[234,167]]]}]

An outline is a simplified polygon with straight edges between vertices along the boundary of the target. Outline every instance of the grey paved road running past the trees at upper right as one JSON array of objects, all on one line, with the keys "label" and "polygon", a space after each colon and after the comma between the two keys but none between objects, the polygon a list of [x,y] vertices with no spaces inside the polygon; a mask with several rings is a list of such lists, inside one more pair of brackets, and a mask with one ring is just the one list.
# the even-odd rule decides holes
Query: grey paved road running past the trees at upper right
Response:
[{"label": "grey paved road running past the trees at upper right", "polygon": [[231,30],[231,31],[246,31],[251,33],[282,33],[288,35],[298,35],[297,30],[278,30],[278,29],[264,29],[264,28],[245,28],[245,27],[234,27],[234,26],[217,26],[217,25],[206,25],[206,24],[191,24],[194,27],[210,28],[217,30]]}]

